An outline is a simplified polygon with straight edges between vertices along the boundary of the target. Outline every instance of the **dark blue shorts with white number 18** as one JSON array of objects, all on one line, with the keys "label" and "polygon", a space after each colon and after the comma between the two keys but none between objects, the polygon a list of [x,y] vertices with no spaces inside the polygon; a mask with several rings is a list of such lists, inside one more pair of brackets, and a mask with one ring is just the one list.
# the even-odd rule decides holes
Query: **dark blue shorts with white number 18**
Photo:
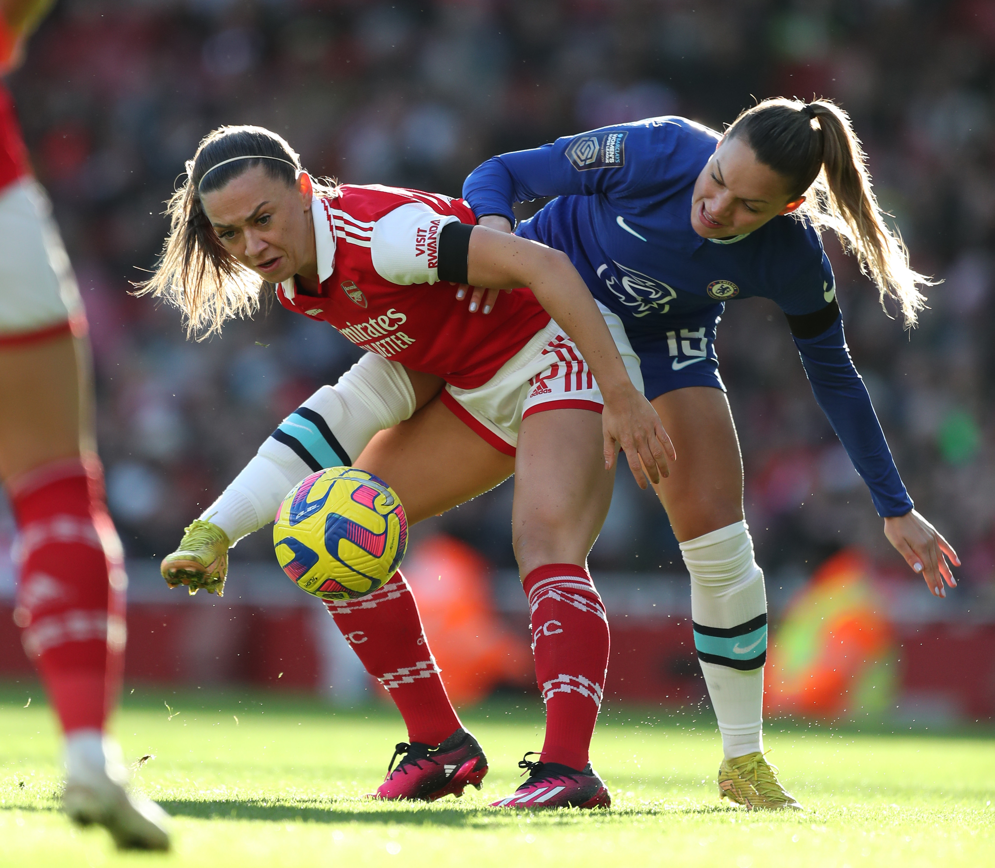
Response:
[{"label": "dark blue shorts with white number 18", "polygon": [[713,310],[673,320],[661,317],[659,328],[652,332],[641,332],[629,327],[631,320],[623,321],[629,342],[639,356],[649,400],[688,386],[725,391],[715,354],[715,329],[721,319],[721,312]]}]

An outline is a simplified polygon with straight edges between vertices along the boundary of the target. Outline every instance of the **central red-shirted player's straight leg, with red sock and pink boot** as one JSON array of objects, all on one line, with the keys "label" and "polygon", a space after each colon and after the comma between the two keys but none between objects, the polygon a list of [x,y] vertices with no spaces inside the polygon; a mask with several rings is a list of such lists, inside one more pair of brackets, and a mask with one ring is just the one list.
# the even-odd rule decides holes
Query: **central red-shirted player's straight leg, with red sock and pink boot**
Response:
[{"label": "central red-shirted player's straight leg, with red sock and pink boot", "polygon": [[601,807],[607,787],[589,747],[608,667],[608,620],[587,571],[611,505],[614,468],[604,469],[601,416],[560,409],[522,420],[511,526],[528,596],[535,673],[546,735],[529,776],[495,802],[506,807]]}]

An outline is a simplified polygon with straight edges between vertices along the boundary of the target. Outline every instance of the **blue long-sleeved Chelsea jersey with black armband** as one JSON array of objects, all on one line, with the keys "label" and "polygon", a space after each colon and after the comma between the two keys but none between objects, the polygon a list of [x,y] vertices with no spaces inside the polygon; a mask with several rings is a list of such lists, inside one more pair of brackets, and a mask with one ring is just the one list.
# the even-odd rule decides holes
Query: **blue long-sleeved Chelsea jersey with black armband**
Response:
[{"label": "blue long-sleeved Chelsea jersey with black armband", "polygon": [[[775,217],[748,235],[718,241],[692,229],[695,182],[718,138],[684,117],[606,126],[493,157],[467,178],[463,195],[478,217],[501,214],[512,224],[513,202],[555,196],[517,234],[570,257],[594,297],[641,345],[644,367],[659,373],[669,364],[684,372],[704,358],[715,362],[701,326],[713,329],[725,302],[761,296],[797,317],[824,311],[836,295],[822,241],[804,219]],[[699,349],[692,338],[700,338]],[[647,352],[661,340],[665,350]],[[815,398],[879,514],[905,515],[912,502],[850,357],[842,319],[837,314],[821,334],[794,340]],[[671,357],[679,342],[689,358]],[[717,373],[699,384],[721,386]],[[660,379],[662,385],[668,383]]]}]

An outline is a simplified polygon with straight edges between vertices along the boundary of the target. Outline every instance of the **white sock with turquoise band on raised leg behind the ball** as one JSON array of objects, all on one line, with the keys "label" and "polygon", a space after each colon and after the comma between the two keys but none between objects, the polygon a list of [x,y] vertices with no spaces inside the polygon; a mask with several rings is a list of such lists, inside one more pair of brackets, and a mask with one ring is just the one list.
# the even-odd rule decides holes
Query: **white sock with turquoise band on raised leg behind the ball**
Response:
[{"label": "white sock with turquoise band on raised leg behind the ball", "polygon": [[411,416],[415,391],[404,367],[367,352],[333,386],[321,386],[266,439],[200,518],[231,544],[274,520],[284,498],[323,467],[350,465],[373,435]]}]

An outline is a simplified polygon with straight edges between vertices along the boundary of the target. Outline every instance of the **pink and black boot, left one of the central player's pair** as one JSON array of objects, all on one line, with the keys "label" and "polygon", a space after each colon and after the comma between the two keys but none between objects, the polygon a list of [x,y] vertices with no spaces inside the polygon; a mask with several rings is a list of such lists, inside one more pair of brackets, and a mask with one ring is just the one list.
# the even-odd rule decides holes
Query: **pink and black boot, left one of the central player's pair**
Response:
[{"label": "pink and black boot, left one of the central player's pair", "polygon": [[[394,768],[394,760],[403,757]],[[481,788],[488,758],[466,730],[457,730],[438,748],[402,742],[394,749],[387,777],[370,798],[435,801],[451,793],[459,798],[470,784]]]}]

